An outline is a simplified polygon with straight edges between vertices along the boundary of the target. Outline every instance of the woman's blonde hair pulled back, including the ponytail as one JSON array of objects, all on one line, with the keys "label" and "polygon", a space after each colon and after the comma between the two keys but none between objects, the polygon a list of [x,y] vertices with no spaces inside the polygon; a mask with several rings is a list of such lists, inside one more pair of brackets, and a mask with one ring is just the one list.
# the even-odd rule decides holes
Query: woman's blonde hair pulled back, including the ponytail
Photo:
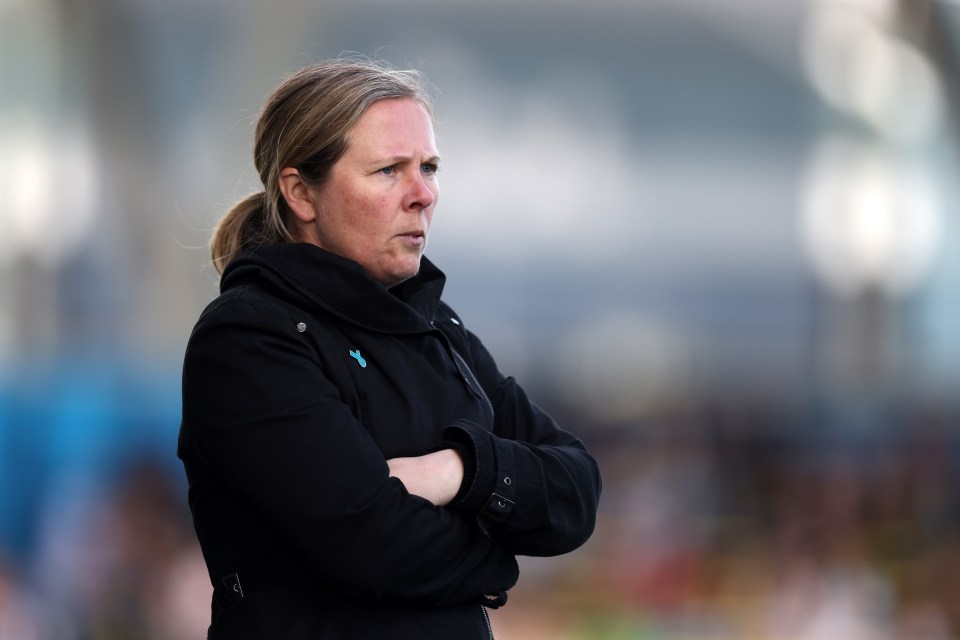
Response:
[{"label": "woman's blonde hair pulled back, including the ponytail", "polygon": [[350,130],[371,104],[385,98],[413,98],[432,114],[419,72],[369,60],[312,64],[277,87],[254,135],[253,160],[264,191],[233,205],[217,223],[210,254],[218,273],[246,247],[296,241],[280,193],[280,171],[295,167],[309,187],[321,187],[346,151]]}]

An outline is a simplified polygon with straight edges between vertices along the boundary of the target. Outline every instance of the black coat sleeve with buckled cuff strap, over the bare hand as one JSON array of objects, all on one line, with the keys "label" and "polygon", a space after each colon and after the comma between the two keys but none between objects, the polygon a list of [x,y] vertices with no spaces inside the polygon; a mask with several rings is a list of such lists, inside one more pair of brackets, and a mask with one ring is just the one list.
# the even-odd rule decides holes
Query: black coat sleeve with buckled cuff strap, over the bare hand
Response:
[{"label": "black coat sleeve with buckled cuff strap, over the bare hand", "polygon": [[458,450],[474,454],[469,488],[455,508],[475,512],[481,525],[513,551],[531,556],[566,553],[593,533],[601,479],[596,460],[573,434],[531,402],[500,373],[480,340],[466,332],[470,364],[494,409],[493,428],[459,420],[444,432]]}]

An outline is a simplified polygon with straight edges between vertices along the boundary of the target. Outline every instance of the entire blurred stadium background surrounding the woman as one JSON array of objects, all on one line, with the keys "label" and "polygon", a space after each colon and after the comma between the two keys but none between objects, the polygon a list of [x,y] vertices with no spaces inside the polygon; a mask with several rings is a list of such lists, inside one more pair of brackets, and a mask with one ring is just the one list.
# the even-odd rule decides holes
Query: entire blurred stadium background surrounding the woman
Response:
[{"label": "entire blurred stadium background surrounding the woman", "polygon": [[0,0],[0,638],[199,639],[175,457],[253,123],[436,85],[428,255],[580,434],[594,537],[498,638],[960,637],[960,5]]}]

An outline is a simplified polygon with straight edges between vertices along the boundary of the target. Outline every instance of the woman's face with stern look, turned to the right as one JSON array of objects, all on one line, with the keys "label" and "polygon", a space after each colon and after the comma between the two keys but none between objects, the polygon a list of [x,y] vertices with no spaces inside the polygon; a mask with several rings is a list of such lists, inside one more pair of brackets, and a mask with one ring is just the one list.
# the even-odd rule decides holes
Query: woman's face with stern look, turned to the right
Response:
[{"label": "woman's face with stern look, turned to the right", "polygon": [[417,274],[439,196],[433,124],[411,98],[374,102],[315,194],[308,242],[391,286]]}]

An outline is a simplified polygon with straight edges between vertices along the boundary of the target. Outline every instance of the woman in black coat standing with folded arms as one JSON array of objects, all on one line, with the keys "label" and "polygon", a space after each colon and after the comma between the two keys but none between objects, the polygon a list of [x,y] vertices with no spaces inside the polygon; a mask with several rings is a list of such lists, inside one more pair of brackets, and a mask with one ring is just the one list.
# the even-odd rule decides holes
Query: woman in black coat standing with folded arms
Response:
[{"label": "woman in black coat standing with folded arms", "polygon": [[440,299],[414,72],[330,61],[270,97],[265,191],[212,240],[178,454],[211,639],[490,638],[517,554],[593,531],[600,476]]}]

